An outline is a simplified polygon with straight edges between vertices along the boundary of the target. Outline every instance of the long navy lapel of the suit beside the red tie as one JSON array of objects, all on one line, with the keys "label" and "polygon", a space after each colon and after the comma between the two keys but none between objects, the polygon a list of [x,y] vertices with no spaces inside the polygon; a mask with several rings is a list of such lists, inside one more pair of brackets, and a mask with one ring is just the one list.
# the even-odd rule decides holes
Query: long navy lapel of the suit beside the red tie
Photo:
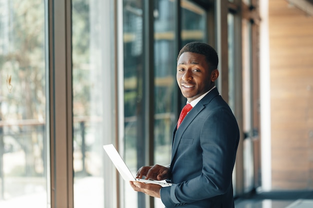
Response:
[{"label": "long navy lapel of the suit beside the red tie", "polygon": [[212,89],[189,111],[189,113],[181,122],[178,129],[177,129],[177,124],[176,124],[176,127],[173,131],[173,136],[172,136],[173,141],[172,141],[172,149],[171,149],[171,161],[173,160],[176,154],[178,144],[186,128],[194,120],[194,118],[202,111],[202,109],[205,108],[205,106],[217,95],[218,95],[217,89],[216,88]]}]

